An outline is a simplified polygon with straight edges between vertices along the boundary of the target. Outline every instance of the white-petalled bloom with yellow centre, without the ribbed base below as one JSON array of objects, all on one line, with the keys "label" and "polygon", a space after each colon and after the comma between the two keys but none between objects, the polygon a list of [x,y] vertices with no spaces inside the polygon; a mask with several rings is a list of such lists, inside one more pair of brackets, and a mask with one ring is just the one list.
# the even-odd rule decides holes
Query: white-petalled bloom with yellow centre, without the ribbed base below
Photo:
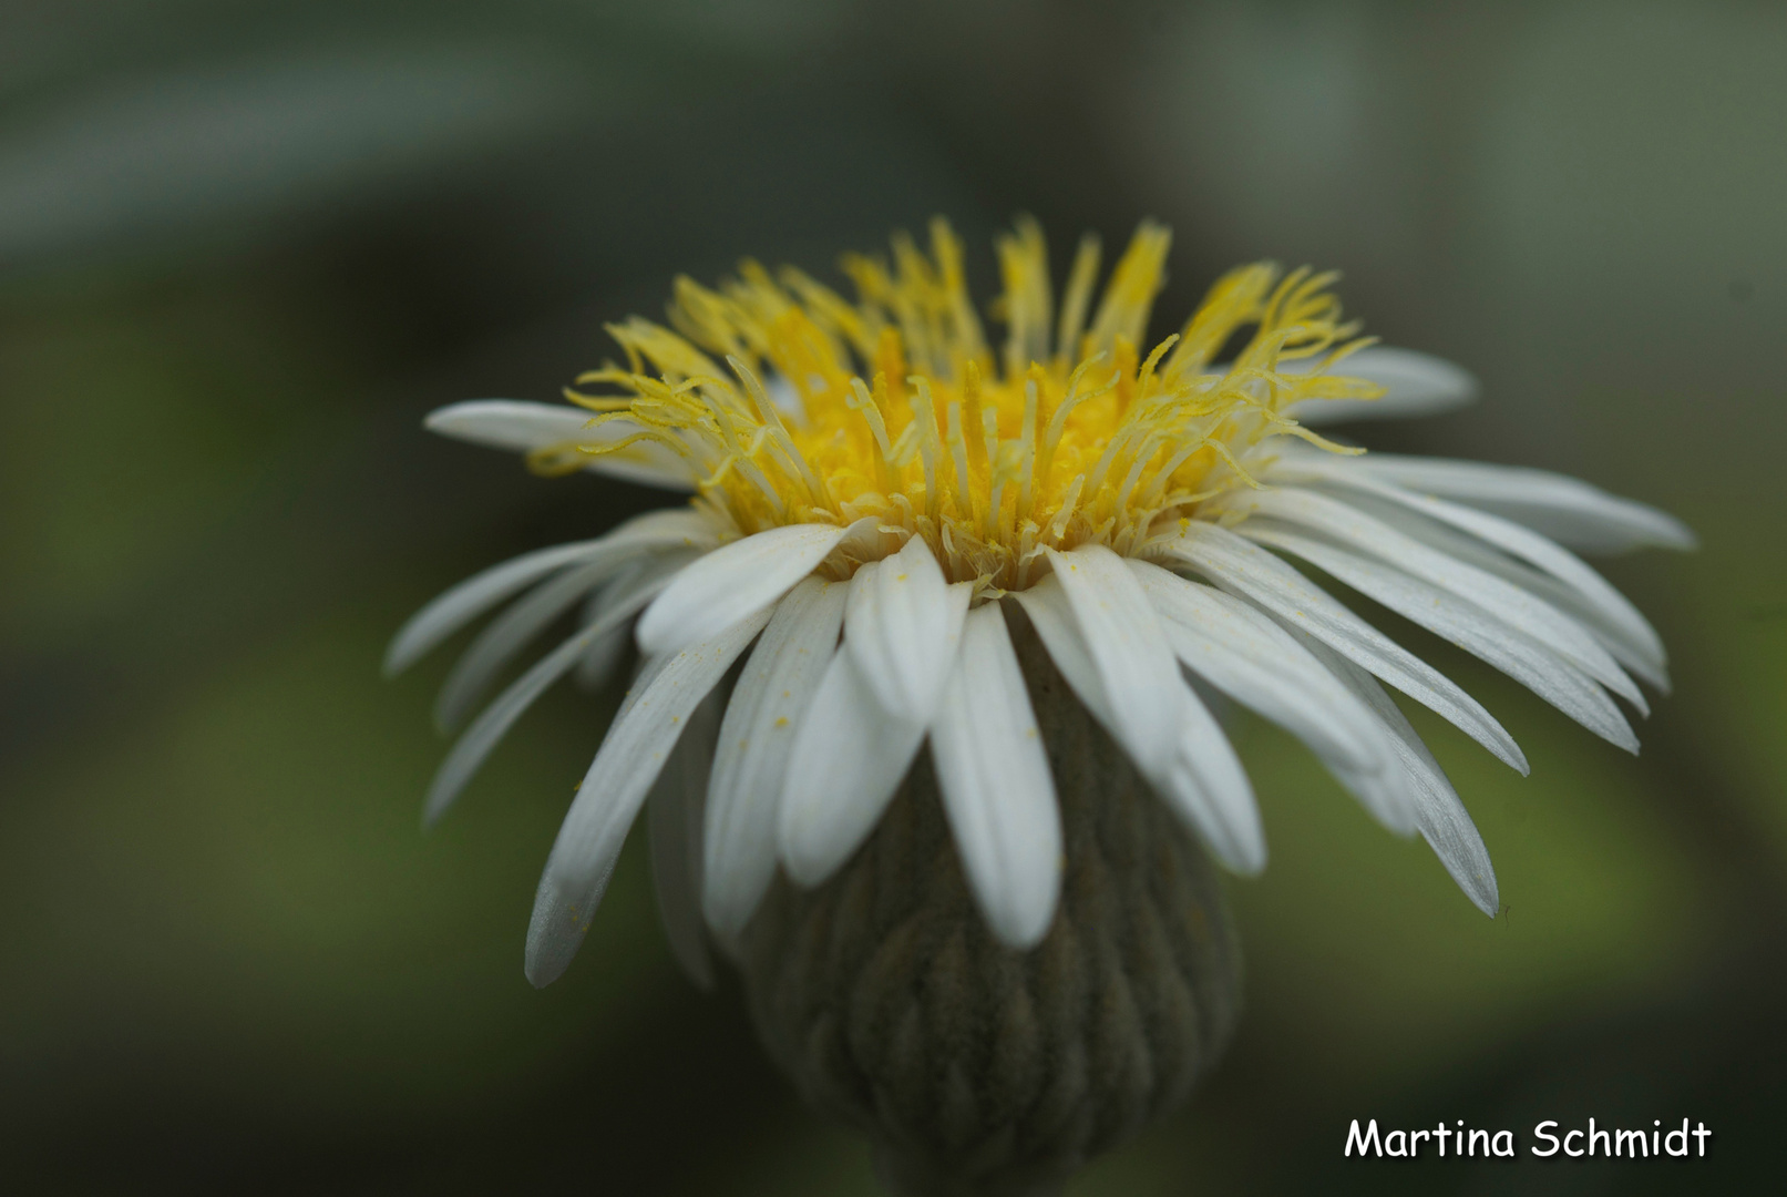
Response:
[{"label": "white-petalled bloom with yellow centre, without the ribbed base below", "polygon": [[449,677],[438,713],[452,725],[584,604],[579,631],[454,745],[429,790],[432,822],[550,682],[599,679],[638,641],[642,672],[540,883],[529,979],[570,963],[649,795],[672,943],[701,974],[702,918],[727,942],[777,865],[806,886],[838,870],[926,743],[986,925],[1008,947],[1036,945],[1061,888],[1061,827],[1008,631],[1019,613],[1229,868],[1258,872],[1265,838],[1210,691],[1287,727],[1496,913],[1471,816],[1380,682],[1526,772],[1521,749],[1292,563],[1637,750],[1614,699],[1644,713],[1633,677],[1667,688],[1664,649],[1571,548],[1692,538],[1556,473],[1363,454],[1312,431],[1435,413],[1474,391],[1456,366],[1360,338],[1333,275],[1238,268],[1144,352],[1167,245],[1144,223],[1094,306],[1099,248],[1083,241],[1056,304],[1042,234],[1020,220],[997,245],[999,348],[942,222],[929,254],[895,238],[892,259],[847,257],[854,300],[745,263],[718,289],[679,279],[670,327],[609,327],[625,364],[577,381],[600,393],[429,416],[438,432],[524,450],[540,472],[693,491],[679,509],[479,573],[391,645],[388,668],[404,668],[525,591]]}]

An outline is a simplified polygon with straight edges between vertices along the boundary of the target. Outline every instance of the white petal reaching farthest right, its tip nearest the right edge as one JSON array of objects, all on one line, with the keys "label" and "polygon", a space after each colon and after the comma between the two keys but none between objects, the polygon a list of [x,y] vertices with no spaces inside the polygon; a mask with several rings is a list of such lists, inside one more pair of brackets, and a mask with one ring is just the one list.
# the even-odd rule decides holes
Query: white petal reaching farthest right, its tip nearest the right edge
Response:
[{"label": "white petal reaching farthest right, its tip nearest the right edge", "polygon": [[1422,495],[1499,513],[1583,552],[1692,548],[1694,532],[1665,511],[1610,495],[1565,473],[1449,457],[1367,454],[1362,473]]}]

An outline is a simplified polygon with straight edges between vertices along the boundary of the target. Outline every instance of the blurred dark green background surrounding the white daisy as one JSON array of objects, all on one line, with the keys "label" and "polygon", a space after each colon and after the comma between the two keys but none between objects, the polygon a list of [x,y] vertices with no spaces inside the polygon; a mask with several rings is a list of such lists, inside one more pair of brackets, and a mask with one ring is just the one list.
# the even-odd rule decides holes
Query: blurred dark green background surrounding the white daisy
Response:
[{"label": "blurred dark green background surrounding the white daisy", "polygon": [[[0,1188],[872,1193],[629,847],[559,984],[538,868],[613,695],[556,691],[434,834],[445,584],[661,497],[438,441],[745,254],[947,213],[1338,266],[1485,402],[1369,443],[1664,506],[1605,565],[1673,649],[1630,759],[1369,611],[1526,747],[1433,720],[1490,922],[1276,732],[1238,1042],[1070,1193],[1685,1192],[1787,1120],[1787,9],[1001,0],[0,7]],[[1351,1118],[1714,1131],[1691,1163],[1360,1165]]]}]

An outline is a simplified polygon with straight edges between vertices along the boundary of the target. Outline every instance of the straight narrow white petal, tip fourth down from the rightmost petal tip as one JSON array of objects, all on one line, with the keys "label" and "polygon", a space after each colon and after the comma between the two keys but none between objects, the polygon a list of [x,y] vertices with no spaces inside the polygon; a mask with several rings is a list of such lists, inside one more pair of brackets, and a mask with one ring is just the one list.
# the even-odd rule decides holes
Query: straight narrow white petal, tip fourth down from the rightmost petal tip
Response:
[{"label": "straight narrow white petal, tip fourth down from the rightmost petal tip", "polygon": [[1508,766],[1528,772],[1521,747],[1483,704],[1267,550],[1228,529],[1197,520],[1162,541],[1160,550],[1308,631],[1456,725]]}]

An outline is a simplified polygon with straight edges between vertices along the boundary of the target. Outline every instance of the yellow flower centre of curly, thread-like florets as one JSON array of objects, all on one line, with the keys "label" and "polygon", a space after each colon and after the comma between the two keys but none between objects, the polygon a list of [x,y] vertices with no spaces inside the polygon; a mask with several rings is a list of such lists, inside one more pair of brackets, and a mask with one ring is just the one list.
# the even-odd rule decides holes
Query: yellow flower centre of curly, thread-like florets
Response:
[{"label": "yellow flower centre of curly, thread-like florets", "polygon": [[[536,450],[545,472],[583,454],[656,441],[697,473],[697,502],[740,534],[851,523],[924,536],[951,581],[1020,590],[1044,547],[1086,541],[1129,554],[1163,518],[1253,486],[1246,459],[1301,436],[1287,407],[1369,398],[1328,373],[1369,343],[1340,322],[1333,275],[1267,263],[1224,275],[1183,331],[1140,345],[1170,234],[1144,222],[1092,306],[1099,245],[1079,245],[1060,306],[1042,230],[1019,220],[997,243],[1004,293],[994,352],[969,298],[961,247],[942,220],[926,255],[895,236],[892,261],[851,255],[856,302],[793,268],[743,263],[718,289],[677,279],[670,329],[609,325],[627,366],[577,379],[618,395],[572,402],[638,431],[611,445]],[[1235,361],[1212,361],[1251,329]]]}]

